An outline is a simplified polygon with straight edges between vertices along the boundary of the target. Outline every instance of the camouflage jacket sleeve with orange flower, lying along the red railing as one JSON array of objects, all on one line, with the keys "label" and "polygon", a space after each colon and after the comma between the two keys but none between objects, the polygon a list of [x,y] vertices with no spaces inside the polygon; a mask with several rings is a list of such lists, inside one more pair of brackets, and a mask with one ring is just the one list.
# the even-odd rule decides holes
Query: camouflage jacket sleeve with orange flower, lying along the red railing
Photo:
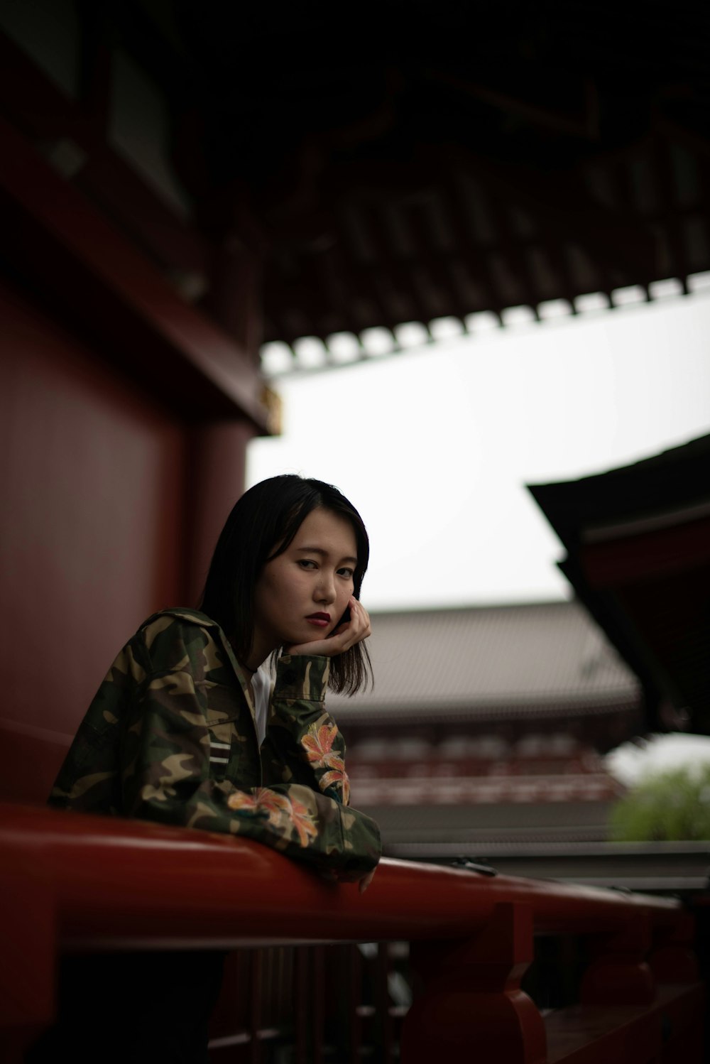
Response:
[{"label": "camouflage jacket sleeve with orange flower, lying along the red railing", "polygon": [[[159,644],[165,645],[168,635],[169,667],[157,668],[158,662],[166,664]],[[239,747],[246,742],[240,734],[244,729],[238,721],[221,720],[229,714],[221,713],[224,688],[210,679],[217,675],[208,660],[214,653],[212,641],[187,645],[184,633],[182,639],[183,644],[173,627],[154,641],[153,667],[142,696],[129,709],[120,758],[124,814],[243,835],[290,858],[345,874],[373,868],[381,853],[379,832],[365,814],[311,789],[301,778],[269,786],[239,780],[241,787],[225,778],[215,749],[220,753],[227,744],[215,736],[224,739],[225,729],[235,729],[233,738]],[[300,687],[302,694],[310,693],[314,661],[319,660],[304,659],[291,668],[291,686],[285,683],[285,692]],[[285,697],[289,712],[302,712],[305,701]],[[327,771],[337,768],[324,768],[322,777]]]}]

